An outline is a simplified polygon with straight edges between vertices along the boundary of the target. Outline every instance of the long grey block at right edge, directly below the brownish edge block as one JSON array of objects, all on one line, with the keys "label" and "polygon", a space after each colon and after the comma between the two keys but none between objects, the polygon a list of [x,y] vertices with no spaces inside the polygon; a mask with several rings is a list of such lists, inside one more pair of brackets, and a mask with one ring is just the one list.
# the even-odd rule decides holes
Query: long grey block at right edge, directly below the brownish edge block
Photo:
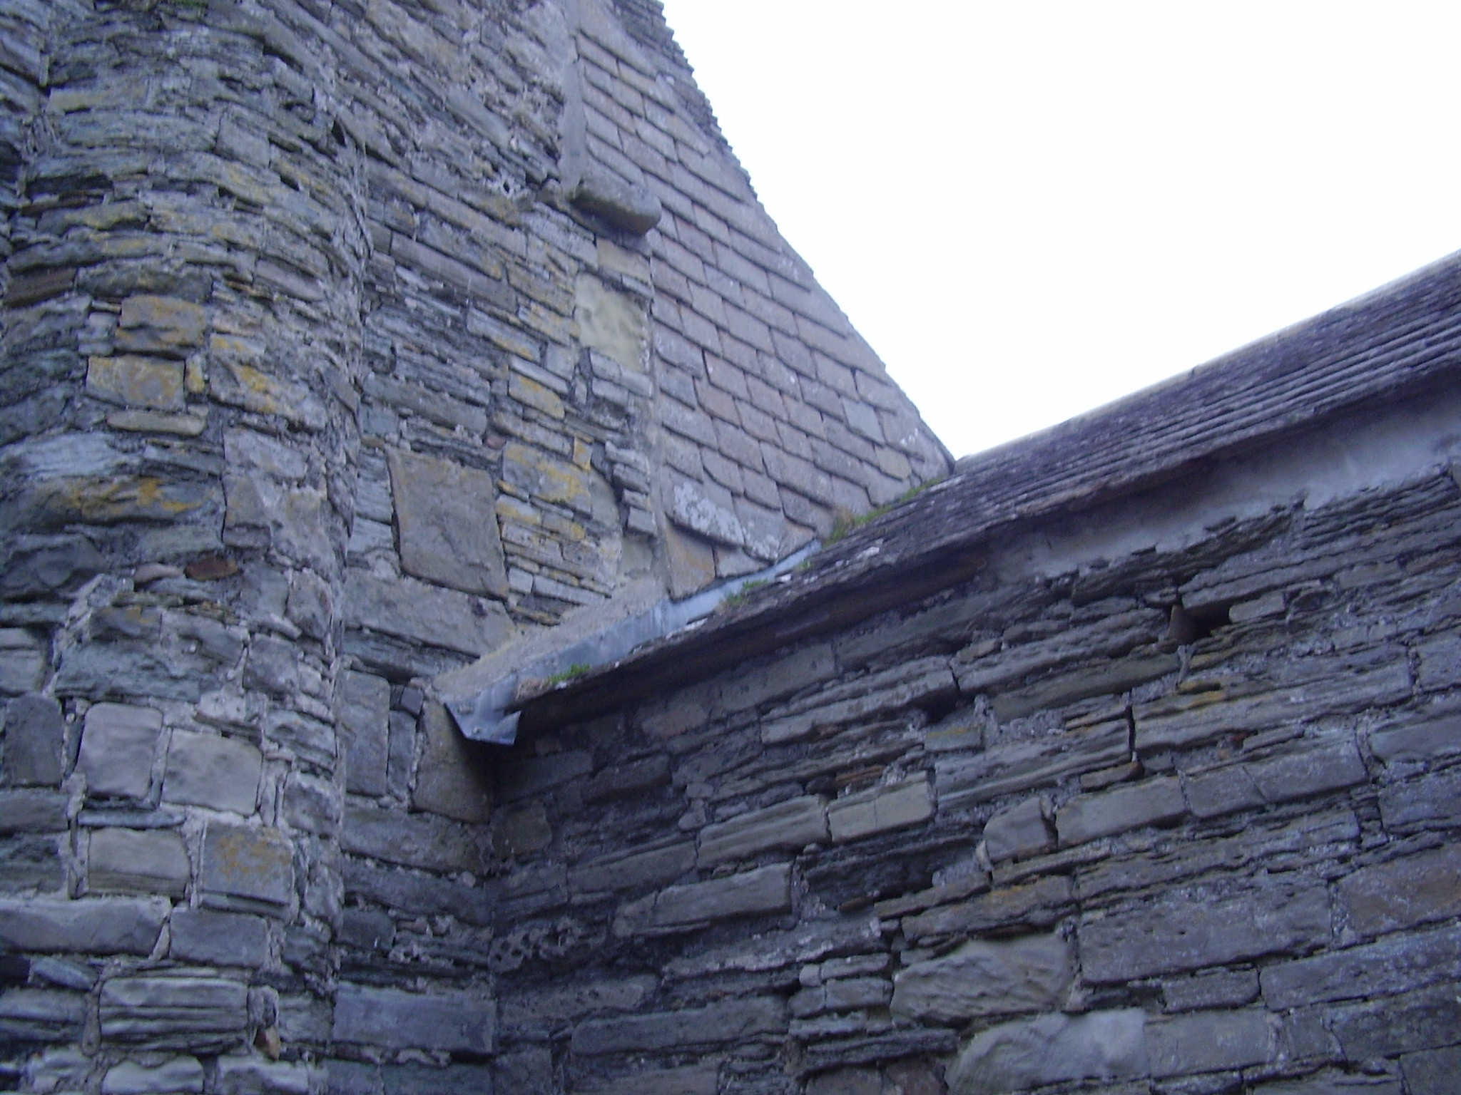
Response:
[{"label": "long grey block at right edge, directly below the brownish edge block", "polygon": [[1435,981],[1461,983],[1461,929],[1397,934],[1262,969],[1270,1007],[1303,1007],[1403,993]]}]

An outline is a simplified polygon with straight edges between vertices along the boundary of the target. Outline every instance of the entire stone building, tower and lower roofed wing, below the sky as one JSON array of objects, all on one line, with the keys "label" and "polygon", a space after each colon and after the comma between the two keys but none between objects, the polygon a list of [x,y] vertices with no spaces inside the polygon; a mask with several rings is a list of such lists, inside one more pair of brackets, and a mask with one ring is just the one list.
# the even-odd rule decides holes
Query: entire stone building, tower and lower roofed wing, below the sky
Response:
[{"label": "entire stone building, tower and lower roofed wing, below the sky", "polygon": [[1461,260],[951,466],[650,0],[0,101],[0,1089],[1457,1089]]}]

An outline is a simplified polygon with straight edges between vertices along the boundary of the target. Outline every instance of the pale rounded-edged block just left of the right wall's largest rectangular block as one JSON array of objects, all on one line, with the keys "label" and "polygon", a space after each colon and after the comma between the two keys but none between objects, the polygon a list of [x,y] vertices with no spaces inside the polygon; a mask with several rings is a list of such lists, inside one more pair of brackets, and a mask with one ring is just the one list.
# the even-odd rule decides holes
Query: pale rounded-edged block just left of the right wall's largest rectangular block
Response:
[{"label": "pale rounded-edged block just left of the right wall's largest rectangular block", "polygon": [[893,978],[893,1010],[938,1023],[1053,1010],[1072,977],[1071,946],[1059,936],[973,940],[900,971]]}]

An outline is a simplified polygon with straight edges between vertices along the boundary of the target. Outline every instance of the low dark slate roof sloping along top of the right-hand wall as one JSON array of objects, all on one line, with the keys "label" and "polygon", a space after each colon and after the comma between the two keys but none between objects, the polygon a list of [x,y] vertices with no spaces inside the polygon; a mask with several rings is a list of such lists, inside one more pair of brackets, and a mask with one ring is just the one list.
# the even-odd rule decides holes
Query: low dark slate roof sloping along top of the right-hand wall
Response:
[{"label": "low dark slate roof sloping along top of the right-hand wall", "polygon": [[1378,402],[1461,381],[1461,253],[1207,365],[958,461],[805,568],[523,705],[592,717],[972,575],[1001,531],[1157,486]]}]

